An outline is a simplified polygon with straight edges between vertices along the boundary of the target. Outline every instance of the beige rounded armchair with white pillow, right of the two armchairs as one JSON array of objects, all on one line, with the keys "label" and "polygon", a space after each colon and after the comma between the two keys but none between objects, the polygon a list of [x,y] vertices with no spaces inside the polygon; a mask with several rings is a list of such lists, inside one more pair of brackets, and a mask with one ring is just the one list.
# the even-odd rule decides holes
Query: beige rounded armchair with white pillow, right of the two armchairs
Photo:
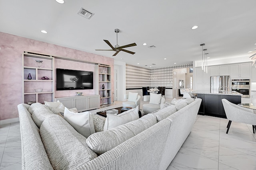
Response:
[{"label": "beige rounded armchair with white pillow, right of the two armchairs", "polygon": [[150,93],[149,104],[143,104],[143,112],[145,114],[152,113],[157,111],[164,105],[165,98],[162,97],[162,94]]}]

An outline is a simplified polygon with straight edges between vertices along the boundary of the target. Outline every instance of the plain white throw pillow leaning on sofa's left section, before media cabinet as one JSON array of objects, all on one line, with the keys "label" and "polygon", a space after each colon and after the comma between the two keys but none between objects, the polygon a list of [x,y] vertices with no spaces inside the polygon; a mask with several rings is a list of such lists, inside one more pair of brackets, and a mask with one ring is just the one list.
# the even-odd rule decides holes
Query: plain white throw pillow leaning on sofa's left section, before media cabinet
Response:
[{"label": "plain white throw pillow leaning on sofa's left section, before media cabinet", "polygon": [[74,127],[78,133],[86,138],[95,133],[92,117],[89,111],[74,113],[65,107],[64,119]]}]

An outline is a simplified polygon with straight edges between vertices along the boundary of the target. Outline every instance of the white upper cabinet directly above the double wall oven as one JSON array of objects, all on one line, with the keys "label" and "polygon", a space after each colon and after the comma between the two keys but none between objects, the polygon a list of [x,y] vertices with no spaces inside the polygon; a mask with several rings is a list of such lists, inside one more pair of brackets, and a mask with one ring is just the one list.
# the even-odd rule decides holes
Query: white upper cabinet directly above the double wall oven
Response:
[{"label": "white upper cabinet directly above the double wall oven", "polygon": [[252,66],[251,63],[237,63],[230,64],[230,77],[251,77]]}]

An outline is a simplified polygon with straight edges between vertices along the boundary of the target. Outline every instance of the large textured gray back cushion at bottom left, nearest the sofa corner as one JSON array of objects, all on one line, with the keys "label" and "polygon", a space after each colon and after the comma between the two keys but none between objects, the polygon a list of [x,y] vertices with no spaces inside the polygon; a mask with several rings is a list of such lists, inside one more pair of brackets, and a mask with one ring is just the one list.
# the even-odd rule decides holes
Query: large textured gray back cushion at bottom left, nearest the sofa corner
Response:
[{"label": "large textured gray back cushion at bottom left, nearest the sofa corner", "polygon": [[40,135],[54,169],[75,169],[97,157],[86,138],[58,115],[45,119]]}]

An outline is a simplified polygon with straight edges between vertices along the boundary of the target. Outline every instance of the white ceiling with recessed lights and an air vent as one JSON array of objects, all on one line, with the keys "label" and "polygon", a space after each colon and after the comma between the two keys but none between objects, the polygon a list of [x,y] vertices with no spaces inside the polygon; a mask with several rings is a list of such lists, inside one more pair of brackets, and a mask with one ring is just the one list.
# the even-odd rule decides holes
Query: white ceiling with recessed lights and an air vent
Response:
[{"label": "white ceiling with recessed lights and an air vent", "polygon": [[[256,0],[64,1],[0,0],[0,31],[143,67],[201,60],[202,43],[209,60],[248,59],[256,52]],[[94,16],[79,16],[81,7]],[[192,30],[194,25],[198,28]],[[110,49],[103,39],[116,44],[116,28],[118,45],[137,44],[126,48],[134,55],[121,51],[112,57],[114,51],[95,51]],[[48,33],[41,33],[43,29]],[[151,45],[156,48],[148,48]]]}]

